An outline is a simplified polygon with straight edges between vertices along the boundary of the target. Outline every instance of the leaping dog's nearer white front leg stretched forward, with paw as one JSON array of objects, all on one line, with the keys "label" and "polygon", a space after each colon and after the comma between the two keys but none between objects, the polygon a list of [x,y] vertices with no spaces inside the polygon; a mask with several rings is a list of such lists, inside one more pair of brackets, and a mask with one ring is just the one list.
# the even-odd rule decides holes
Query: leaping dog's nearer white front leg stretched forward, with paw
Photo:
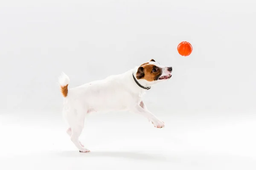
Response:
[{"label": "leaping dog's nearer white front leg stretched forward, with paw", "polygon": [[157,119],[157,117],[154,116],[153,113],[151,113],[150,111],[147,110],[147,108],[145,107],[144,103],[143,104],[142,103],[143,102],[141,102],[140,105],[136,105],[134,108],[132,108],[132,111],[134,113],[138,113],[138,114],[148,118],[148,120],[150,120],[152,122],[154,127],[157,127],[157,128],[164,127],[164,122],[162,122],[159,119]]}]

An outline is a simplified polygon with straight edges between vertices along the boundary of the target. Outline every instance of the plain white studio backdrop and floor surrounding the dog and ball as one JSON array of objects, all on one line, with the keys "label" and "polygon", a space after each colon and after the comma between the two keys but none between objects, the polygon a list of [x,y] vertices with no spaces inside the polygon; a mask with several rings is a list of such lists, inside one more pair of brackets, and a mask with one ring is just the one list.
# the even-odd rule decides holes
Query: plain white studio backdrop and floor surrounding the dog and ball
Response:
[{"label": "plain white studio backdrop and floor surrounding the dog and ball", "polygon": [[[1,1],[0,169],[255,169],[255,8],[253,0]],[[181,41],[192,44],[189,57],[177,53]],[[132,113],[90,115],[81,141],[91,153],[79,153],[61,117],[61,72],[75,87],[151,58],[173,67],[144,99],[166,127]]]}]

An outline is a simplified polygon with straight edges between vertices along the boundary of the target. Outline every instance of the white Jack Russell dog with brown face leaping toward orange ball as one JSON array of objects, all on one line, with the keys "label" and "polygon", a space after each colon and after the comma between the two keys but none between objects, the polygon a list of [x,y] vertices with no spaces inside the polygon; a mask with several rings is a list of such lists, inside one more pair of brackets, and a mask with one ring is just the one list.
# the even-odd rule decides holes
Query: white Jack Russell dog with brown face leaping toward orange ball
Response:
[{"label": "white Jack Russell dog with brown face leaping toward orange ball", "polygon": [[148,111],[142,100],[151,85],[172,77],[172,67],[166,67],[154,59],[122,74],[112,75],[102,80],[69,88],[69,77],[62,73],[59,77],[61,93],[64,97],[63,115],[69,128],[67,134],[80,152],[90,152],[79,141],[88,113],[109,111],[131,111],[145,116],[157,128],[165,126]]}]

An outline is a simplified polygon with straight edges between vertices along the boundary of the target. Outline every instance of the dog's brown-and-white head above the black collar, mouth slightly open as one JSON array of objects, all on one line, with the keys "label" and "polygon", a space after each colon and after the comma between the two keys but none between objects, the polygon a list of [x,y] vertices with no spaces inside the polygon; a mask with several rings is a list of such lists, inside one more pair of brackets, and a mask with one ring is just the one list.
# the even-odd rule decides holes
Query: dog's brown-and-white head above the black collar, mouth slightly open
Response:
[{"label": "dog's brown-and-white head above the black collar, mouth slightly open", "polygon": [[145,62],[137,70],[136,78],[142,80],[147,85],[163,82],[172,77],[172,67],[166,67],[151,59]]}]

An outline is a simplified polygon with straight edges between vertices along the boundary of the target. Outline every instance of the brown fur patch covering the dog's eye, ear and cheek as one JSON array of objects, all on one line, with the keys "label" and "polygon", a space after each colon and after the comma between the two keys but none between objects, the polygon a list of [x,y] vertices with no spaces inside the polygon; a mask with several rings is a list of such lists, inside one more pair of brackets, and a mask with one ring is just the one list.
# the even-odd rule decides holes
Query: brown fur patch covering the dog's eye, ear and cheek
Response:
[{"label": "brown fur patch covering the dog's eye, ear and cheek", "polygon": [[149,65],[144,65],[139,67],[136,77],[137,79],[145,79],[148,82],[152,82],[157,80],[161,74],[162,74],[162,68],[159,68],[153,64],[149,64]]}]

